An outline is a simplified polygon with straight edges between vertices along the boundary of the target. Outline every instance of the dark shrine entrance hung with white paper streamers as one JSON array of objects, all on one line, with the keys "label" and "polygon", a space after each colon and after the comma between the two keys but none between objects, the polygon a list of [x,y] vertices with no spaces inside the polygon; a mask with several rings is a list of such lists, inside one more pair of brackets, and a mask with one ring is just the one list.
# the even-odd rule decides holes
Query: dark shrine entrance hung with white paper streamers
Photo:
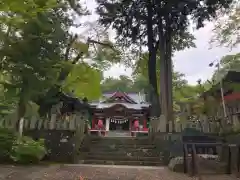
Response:
[{"label": "dark shrine entrance hung with white paper streamers", "polygon": [[130,121],[126,118],[110,118],[109,123],[110,131],[129,131],[130,130]]}]

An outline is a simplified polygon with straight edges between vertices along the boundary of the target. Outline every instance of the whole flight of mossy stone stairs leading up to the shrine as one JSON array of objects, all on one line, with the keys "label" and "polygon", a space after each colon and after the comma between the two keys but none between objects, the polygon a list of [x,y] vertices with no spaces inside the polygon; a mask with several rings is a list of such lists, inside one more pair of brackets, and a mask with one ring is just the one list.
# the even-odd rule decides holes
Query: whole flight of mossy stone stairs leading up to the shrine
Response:
[{"label": "whole flight of mossy stone stairs leading up to the shrine", "polygon": [[163,165],[148,137],[90,137],[80,149],[81,164]]}]

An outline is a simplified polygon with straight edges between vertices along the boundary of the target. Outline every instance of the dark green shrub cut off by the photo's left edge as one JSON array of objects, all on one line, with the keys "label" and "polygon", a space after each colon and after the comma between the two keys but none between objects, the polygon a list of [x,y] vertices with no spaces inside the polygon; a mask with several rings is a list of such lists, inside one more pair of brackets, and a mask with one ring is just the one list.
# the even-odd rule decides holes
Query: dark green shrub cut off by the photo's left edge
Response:
[{"label": "dark green shrub cut off by the photo's left edge", "polygon": [[15,132],[11,129],[0,128],[0,160],[7,161],[10,160],[10,153],[12,146],[16,141],[17,136]]}]

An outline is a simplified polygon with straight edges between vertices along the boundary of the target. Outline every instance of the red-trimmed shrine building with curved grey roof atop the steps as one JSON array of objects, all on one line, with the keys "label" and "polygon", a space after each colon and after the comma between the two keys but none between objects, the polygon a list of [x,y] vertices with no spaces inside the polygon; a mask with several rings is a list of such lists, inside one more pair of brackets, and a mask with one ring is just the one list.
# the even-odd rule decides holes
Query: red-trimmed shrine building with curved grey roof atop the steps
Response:
[{"label": "red-trimmed shrine building with curved grey roof atop the steps", "polygon": [[101,132],[125,133],[135,136],[148,134],[149,108],[145,95],[121,91],[103,93],[98,102],[90,103],[92,109],[91,134]]}]

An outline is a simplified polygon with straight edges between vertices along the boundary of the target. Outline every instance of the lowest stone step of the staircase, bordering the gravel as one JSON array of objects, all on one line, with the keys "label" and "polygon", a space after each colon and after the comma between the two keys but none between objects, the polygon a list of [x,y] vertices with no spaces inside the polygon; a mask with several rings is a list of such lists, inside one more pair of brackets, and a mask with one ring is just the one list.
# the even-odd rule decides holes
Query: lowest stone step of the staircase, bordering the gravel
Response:
[{"label": "lowest stone step of the staircase, bordering the gravel", "polygon": [[80,164],[103,164],[103,165],[129,165],[129,166],[162,166],[160,161],[106,161],[106,160],[80,160]]}]

